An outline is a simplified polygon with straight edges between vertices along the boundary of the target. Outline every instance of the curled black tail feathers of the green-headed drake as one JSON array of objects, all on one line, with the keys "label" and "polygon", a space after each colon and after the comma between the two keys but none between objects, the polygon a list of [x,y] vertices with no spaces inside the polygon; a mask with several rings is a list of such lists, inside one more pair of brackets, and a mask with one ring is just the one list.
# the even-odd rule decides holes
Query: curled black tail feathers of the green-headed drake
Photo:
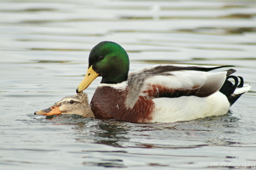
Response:
[{"label": "curled black tail feathers of the green-headed drake", "polygon": [[[235,83],[233,84],[228,79],[233,78]],[[240,83],[239,83],[240,79]],[[239,84],[238,84],[239,83]],[[223,86],[220,88],[220,92],[227,96],[230,106],[237,101],[237,99],[242,96],[243,93],[234,94],[235,89],[242,88],[244,86],[244,79],[240,76],[228,76],[225,80]]]}]

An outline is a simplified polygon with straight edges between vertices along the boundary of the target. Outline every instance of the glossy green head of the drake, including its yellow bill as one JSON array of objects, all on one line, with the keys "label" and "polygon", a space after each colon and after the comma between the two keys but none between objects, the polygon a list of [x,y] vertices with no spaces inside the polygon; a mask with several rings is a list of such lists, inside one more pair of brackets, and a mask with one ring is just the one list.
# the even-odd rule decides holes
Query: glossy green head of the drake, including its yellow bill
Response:
[{"label": "glossy green head of the drake, including its yellow bill", "polygon": [[115,42],[104,41],[92,48],[85,78],[76,92],[86,89],[98,76],[101,83],[116,84],[127,80],[129,57],[124,48]]}]

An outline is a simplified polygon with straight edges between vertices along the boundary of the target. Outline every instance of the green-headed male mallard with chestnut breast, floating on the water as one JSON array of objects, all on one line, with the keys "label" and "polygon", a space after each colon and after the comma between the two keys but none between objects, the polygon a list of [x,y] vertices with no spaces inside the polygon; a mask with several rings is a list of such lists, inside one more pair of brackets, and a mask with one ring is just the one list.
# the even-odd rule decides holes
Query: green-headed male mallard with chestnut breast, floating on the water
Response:
[{"label": "green-headed male mallard with chestnut breast, floating on the water", "polygon": [[242,77],[230,76],[234,69],[209,72],[222,67],[228,66],[157,65],[128,74],[125,49],[105,41],[92,48],[86,76],[76,92],[101,76],[91,100],[95,118],[135,123],[191,121],[227,113],[249,91]]}]

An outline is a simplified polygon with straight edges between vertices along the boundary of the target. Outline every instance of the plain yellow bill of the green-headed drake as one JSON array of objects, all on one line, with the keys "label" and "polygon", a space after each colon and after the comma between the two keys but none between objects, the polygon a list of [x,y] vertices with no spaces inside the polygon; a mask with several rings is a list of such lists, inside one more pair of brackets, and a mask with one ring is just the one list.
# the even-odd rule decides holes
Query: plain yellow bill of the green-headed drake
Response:
[{"label": "plain yellow bill of the green-headed drake", "polygon": [[86,89],[90,84],[99,76],[99,73],[96,73],[92,66],[87,69],[87,72],[85,74],[85,78],[83,78],[82,82],[79,84],[79,86],[76,89],[77,93],[82,92],[84,89]]}]

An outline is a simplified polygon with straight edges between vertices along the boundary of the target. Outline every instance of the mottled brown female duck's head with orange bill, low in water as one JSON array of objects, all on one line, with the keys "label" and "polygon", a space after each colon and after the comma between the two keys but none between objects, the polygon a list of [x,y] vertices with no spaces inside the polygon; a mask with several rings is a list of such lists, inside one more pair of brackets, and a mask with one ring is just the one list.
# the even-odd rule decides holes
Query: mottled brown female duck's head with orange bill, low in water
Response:
[{"label": "mottled brown female duck's head with orange bill, low in water", "polygon": [[66,96],[53,106],[37,111],[34,114],[43,116],[51,116],[55,114],[78,114],[83,117],[93,117],[91,107],[88,103],[88,96],[86,93],[77,93],[73,96]]}]

